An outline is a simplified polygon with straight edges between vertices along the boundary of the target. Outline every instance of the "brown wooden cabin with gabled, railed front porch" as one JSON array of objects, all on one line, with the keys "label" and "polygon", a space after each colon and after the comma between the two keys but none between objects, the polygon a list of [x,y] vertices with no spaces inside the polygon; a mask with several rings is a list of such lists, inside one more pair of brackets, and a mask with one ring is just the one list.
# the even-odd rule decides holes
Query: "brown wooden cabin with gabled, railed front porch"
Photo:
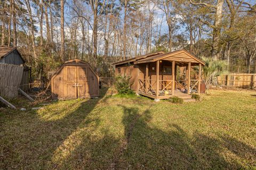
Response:
[{"label": "brown wooden cabin with gabled, railed front porch", "polygon": [[[188,97],[200,92],[201,67],[205,63],[186,50],[156,52],[114,63],[116,74],[131,77],[131,89],[139,95],[159,99],[171,96]],[[198,72],[191,79],[191,67]],[[182,77],[177,72],[185,72]],[[189,96],[190,97],[190,96]]]}]

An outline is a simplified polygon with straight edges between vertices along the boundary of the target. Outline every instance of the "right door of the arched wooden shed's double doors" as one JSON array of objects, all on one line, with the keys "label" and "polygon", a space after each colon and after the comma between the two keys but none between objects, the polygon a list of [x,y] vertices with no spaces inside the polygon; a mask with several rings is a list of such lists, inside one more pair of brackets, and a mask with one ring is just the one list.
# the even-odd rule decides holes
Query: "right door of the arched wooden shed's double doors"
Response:
[{"label": "right door of the arched wooden shed's double doors", "polygon": [[88,97],[89,92],[89,79],[88,79],[87,66],[77,66],[77,96],[79,98]]}]

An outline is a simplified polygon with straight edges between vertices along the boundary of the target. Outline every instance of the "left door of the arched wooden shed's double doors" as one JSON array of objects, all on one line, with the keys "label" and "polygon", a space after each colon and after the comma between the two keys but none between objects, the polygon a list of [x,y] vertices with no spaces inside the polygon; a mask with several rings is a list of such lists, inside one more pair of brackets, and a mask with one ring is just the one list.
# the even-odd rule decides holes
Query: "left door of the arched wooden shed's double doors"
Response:
[{"label": "left door of the arched wooden shed's double doors", "polygon": [[76,66],[66,66],[66,94],[67,98],[77,98],[77,69]]}]

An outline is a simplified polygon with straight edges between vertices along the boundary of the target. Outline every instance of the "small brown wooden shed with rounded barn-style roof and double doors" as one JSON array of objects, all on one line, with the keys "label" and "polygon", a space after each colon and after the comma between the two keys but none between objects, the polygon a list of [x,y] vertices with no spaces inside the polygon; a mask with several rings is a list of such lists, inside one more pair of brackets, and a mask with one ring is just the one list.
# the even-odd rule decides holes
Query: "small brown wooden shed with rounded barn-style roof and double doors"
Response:
[{"label": "small brown wooden shed with rounded barn-style roof and double doors", "polygon": [[99,96],[99,77],[89,63],[70,60],[51,78],[52,98],[75,99]]}]

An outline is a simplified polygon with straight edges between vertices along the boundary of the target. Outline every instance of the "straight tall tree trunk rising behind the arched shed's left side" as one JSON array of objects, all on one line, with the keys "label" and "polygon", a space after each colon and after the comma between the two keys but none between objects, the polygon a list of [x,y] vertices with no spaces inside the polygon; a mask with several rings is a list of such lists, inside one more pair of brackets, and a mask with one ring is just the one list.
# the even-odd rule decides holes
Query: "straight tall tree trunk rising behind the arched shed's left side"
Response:
[{"label": "straight tall tree trunk rising behind the arched shed's left side", "polygon": [[60,57],[62,62],[65,61],[65,33],[64,33],[64,0],[60,0],[60,34],[61,34],[61,48]]}]

